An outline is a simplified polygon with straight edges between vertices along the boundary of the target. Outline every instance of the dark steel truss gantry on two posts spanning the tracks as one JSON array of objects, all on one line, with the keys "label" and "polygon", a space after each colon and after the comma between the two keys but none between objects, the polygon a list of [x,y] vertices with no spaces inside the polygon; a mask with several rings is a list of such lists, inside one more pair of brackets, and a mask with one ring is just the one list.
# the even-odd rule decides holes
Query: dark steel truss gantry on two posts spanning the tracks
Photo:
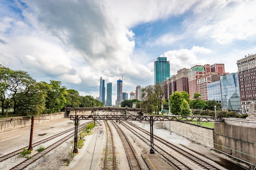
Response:
[{"label": "dark steel truss gantry on two posts spanning the tracks", "polygon": [[[124,120],[137,120],[137,121],[148,121],[150,123],[150,153],[155,153],[154,151],[154,135],[153,135],[153,124],[155,121],[211,121],[211,122],[224,122],[221,117],[204,117],[204,116],[132,116],[132,115],[70,115],[70,120],[75,123],[75,136],[74,136],[74,150],[77,152],[77,129],[78,122],[80,120],[116,120],[122,122]],[[99,123],[99,122],[98,122]]]}]

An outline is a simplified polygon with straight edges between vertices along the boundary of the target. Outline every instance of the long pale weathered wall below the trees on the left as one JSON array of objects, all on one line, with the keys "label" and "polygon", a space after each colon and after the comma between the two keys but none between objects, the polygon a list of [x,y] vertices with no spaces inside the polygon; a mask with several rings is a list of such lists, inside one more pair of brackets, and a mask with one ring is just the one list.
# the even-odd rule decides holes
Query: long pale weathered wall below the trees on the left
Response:
[{"label": "long pale weathered wall below the trees on the left", "polygon": [[[42,114],[35,117],[34,124],[53,121],[65,117],[65,112]],[[31,117],[13,117],[0,119],[0,132],[31,126]]]}]

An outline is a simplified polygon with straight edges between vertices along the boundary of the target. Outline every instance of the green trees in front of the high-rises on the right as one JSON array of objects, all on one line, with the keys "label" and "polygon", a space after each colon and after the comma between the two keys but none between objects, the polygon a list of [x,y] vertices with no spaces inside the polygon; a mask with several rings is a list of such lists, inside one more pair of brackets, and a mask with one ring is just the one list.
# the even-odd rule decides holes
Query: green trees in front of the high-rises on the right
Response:
[{"label": "green trees in front of the high-rises on the right", "polygon": [[201,99],[200,93],[195,93],[193,100],[190,100],[189,93],[185,91],[176,91],[170,95],[170,101],[168,101],[168,99],[162,99],[164,93],[164,89],[158,84],[149,85],[142,89],[142,97],[144,98],[144,101],[125,100],[121,102],[121,106],[131,107],[133,102],[137,102],[137,108],[143,108],[148,113],[154,112],[155,114],[158,114],[162,107],[163,109],[168,110],[170,103],[171,113],[173,115],[182,116],[191,115],[192,109],[214,110],[214,106],[216,106],[216,110],[221,110],[221,104],[217,103],[215,100],[208,100],[205,102]]}]

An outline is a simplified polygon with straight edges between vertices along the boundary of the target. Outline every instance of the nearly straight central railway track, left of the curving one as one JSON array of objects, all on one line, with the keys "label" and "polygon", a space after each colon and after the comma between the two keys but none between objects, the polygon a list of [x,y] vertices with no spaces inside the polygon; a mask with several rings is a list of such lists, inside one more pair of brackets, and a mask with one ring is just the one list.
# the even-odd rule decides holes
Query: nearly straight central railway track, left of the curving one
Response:
[{"label": "nearly straight central railway track, left of the curving one", "polygon": [[115,170],[116,169],[116,158],[115,158],[115,146],[113,141],[113,135],[111,128],[107,121],[104,121],[106,127],[106,150],[104,160],[104,170]]}]

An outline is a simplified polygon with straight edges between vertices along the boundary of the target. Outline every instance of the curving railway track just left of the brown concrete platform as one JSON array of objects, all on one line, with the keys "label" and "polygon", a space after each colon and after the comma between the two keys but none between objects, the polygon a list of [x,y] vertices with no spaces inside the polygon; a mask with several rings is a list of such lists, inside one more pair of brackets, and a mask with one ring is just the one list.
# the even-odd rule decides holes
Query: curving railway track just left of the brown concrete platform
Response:
[{"label": "curving railway track just left of the brown concrete platform", "polygon": [[124,134],[124,132],[121,130],[121,128],[114,122],[111,121],[112,124],[115,126],[117,129],[117,132],[123,142],[124,149],[126,151],[127,159],[130,165],[131,170],[142,170],[141,165],[139,164],[139,161],[137,159],[137,156],[132,148],[132,145],[130,144],[129,139],[127,136]]}]

